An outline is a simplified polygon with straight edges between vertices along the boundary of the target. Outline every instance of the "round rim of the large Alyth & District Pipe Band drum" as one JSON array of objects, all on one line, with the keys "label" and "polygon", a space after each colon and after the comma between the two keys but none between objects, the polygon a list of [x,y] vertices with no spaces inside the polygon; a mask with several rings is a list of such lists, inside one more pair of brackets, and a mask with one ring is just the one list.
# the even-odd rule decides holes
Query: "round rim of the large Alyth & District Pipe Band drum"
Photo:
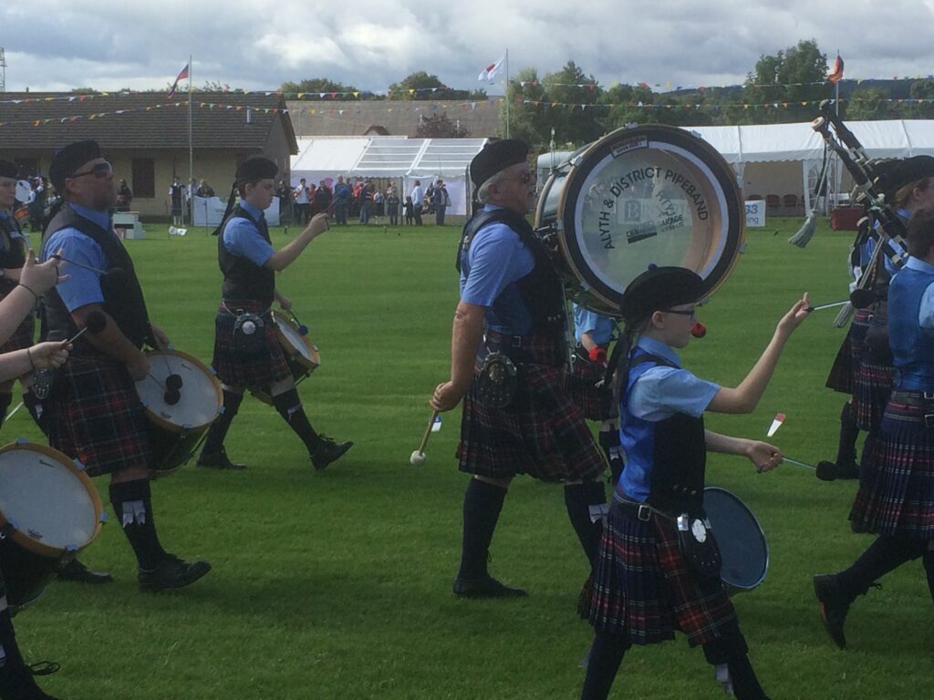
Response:
[{"label": "round rim of the large Alyth & District Pipe Band drum", "polygon": [[[536,210],[536,225],[539,225],[544,215],[545,199],[556,180],[556,175],[564,175],[564,188],[560,193],[555,220],[561,231],[561,235],[559,235],[561,253],[567,261],[571,273],[578,280],[578,286],[583,290],[583,293],[577,293],[573,296],[577,297],[582,305],[604,314],[619,314],[618,310],[623,293],[606,285],[588,268],[584,254],[580,246],[577,245],[576,203],[592,170],[592,168],[585,169],[584,166],[588,162],[601,161],[612,155],[616,148],[626,142],[636,142],[642,138],[645,139],[646,146],[649,148],[652,147],[654,142],[659,142],[667,146],[680,148],[696,157],[714,175],[716,188],[719,193],[722,193],[725,211],[721,212],[721,216],[724,218],[724,228],[726,229],[722,247],[728,253],[722,255],[716,261],[710,273],[703,277],[701,287],[703,298],[710,297],[716,289],[726,282],[742,253],[743,241],[745,240],[743,196],[736,183],[736,175],[733,174],[732,168],[723,156],[700,136],[679,127],[661,124],[623,127],[606,134],[589,147],[574,154],[567,161],[570,168],[566,172],[559,167],[549,176],[545,188],[542,189],[542,196]],[[569,206],[569,204],[574,204],[574,206]],[[652,261],[646,260],[645,262],[647,266]],[[627,285],[629,285],[629,282],[631,280],[627,281]]]}]

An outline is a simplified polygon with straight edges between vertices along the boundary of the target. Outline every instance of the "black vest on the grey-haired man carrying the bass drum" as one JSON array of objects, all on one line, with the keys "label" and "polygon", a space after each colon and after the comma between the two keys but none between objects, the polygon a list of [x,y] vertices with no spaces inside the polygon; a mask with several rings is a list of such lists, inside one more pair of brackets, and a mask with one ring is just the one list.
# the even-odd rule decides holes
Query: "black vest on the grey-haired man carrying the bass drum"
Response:
[{"label": "black vest on the grey-haired man carrying the bass drum", "polygon": [[532,333],[551,334],[558,343],[563,343],[564,330],[567,327],[564,288],[555,267],[548,257],[545,245],[535,236],[531,224],[521,214],[510,209],[483,210],[464,225],[460,234],[460,246],[456,267],[460,273],[467,260],[467,253],[474,241],[474,236],[488,224],[503,223],[518,234],[519,240],[531,251],[535,267],[531,273],[517,282],[519,296],[531,316]]}]

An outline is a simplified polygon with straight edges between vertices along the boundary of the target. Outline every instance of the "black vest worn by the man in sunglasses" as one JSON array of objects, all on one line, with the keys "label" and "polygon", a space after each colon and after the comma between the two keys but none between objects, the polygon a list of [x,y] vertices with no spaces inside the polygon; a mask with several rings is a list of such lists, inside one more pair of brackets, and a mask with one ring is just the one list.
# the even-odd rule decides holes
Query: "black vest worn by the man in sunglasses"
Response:
[{"label": "black vest worn by the man in sunglasses", "polygon": [[[120,268],[124,271],[121,275],[124,279],[116,281],[109,280],[106,275],[101,275],[101,291],[104,294],[104,311],[114,319],[120,332],[127,337],[137,348],[141,348],[143,343],[149,340],[149,313],[146,310],[146,301],[143,299],[143,290],[139,286],[139,280],[136,279],[136,272],[133,267],[133,259],[126,252],[126,248],[120,243],[120,239],[112,231],[106,231],[95,224],[91,219],[82,217],[68,204],[62,207],[62,210],[55,215],[49,224],[49,228],[42,236],[42,246],[49,243],[52,234],[63,229],[76,229],[90,238],[94,243],[101,246],[106,258],[106,269]],[[46,251],[49,255],[55,251]],[[68,265],[64,265],[67,272]],[[45,315],[42,323],[42,340],[65,340],[72,338],[78,332],[78,326],[75,324],[71,313],[62,301],[55,287],[52,287],[45,293]],[[72,352],[76,354],[97,353],[91,343],[84,337],[78,338],[75,343],[75,349]]]}]

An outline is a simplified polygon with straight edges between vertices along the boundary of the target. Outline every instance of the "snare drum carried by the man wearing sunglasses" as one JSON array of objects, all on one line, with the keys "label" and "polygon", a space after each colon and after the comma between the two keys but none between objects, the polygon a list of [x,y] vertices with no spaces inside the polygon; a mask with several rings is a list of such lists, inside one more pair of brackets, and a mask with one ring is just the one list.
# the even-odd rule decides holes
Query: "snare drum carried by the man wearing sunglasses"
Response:
[{"label": "snare drum carried by the man wearing sunglasses", "polygon": [[[136,382],[149,418],[149,444],[156,476],[170,474],[195,453],[220,414],[223,394],[214,372],[196,357],[177,350],[152,351],[149,375]],[[177,376],[172,380],[169,377]],[[180,381],[177,390],[174,383]]]}]

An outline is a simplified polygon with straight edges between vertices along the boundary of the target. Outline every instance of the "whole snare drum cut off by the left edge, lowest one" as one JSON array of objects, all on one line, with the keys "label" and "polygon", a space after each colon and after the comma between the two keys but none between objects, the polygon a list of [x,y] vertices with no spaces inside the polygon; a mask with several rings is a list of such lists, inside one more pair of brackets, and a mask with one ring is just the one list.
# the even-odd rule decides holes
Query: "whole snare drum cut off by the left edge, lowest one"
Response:
[{"label": "whole snare drum cut off by the left edge, lowest one", "polygon": [[11,606],[33,602],[59,562],[100,532],[101,499],[82,469],[25,440],[0,449],[0,567]]}]

